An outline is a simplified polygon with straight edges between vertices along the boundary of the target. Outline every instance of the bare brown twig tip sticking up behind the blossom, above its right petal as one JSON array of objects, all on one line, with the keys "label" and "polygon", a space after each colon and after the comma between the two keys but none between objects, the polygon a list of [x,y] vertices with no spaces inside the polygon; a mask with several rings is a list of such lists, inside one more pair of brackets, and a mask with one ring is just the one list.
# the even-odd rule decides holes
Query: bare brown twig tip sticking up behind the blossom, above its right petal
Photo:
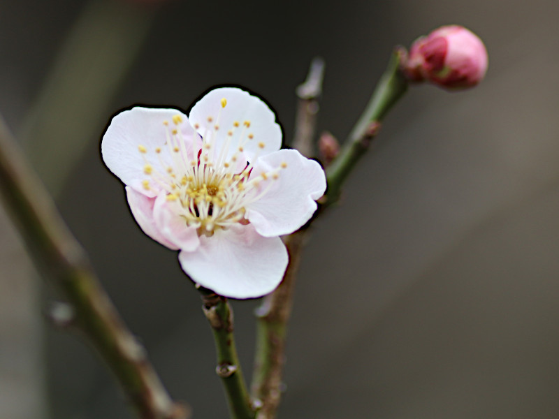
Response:
[{"label": "bare brown twig tip sticking up behind the blossom, above its right petal", "polygon": [[324,60],[317,57],[311,61],[307,80],[297,87],[299,98],[293,135],[293,148],[298,149],[303,156],[310,157],[314,154],[314,132],[317,126],[319,111],[318,98],[322,93],[322,80],[324,78]]}]

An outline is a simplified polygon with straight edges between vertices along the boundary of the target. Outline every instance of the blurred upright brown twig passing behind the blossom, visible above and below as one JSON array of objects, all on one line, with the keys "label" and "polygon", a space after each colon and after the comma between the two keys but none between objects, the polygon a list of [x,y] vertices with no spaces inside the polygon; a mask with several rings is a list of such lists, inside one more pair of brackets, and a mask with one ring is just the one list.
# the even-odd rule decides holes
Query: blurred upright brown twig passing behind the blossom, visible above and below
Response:
[{"label": "blurred upright brown twig passing behind the blossom, visible above and below", "polygon": [[[313,154],[318,98],[323,78],[324,61],[315,58],[307,80],[297,88],[299,102],[293,146],[305,156]],[[273,293],[264,297],[256,310],[256,353],[251,390],[252,397],[261,404],[256,416],[258,419],[275,418],[281,400],[287,323],[291,316],[293,288],[307,233],[308,230],[303,229],[284,237],[289,265],[282,283]]]}]

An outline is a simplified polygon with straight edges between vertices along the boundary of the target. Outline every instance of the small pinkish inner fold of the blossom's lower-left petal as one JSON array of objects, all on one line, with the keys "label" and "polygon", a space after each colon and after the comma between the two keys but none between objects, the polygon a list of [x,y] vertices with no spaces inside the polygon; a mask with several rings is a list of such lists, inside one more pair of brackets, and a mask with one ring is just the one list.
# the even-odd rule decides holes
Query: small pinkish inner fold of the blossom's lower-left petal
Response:
[{"label": "small pinkish inner fold of the blossom's lower-left petal", "polygon": [[193,251],[200,244],[200,240],[196,227],[187,226],[187,222],[180,216],[182,211],[184,210],[178,200],[168,200],[166,193],[161,192],[155,198],[153,212],[155,226],[175,248]]}]

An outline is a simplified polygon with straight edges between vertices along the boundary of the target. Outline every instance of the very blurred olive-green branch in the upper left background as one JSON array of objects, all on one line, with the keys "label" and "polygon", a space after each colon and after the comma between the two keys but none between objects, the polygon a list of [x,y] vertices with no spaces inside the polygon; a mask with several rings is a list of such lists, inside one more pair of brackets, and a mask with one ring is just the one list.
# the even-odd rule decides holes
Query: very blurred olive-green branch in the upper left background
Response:
[{"label": "very blurred olive-green branch in the upper left background", "polygon": [[148,6],[154,5],[87,2],[46,75],[18,138],[55,196],[88,142],[99,138],[110,101],[156,16]]}]

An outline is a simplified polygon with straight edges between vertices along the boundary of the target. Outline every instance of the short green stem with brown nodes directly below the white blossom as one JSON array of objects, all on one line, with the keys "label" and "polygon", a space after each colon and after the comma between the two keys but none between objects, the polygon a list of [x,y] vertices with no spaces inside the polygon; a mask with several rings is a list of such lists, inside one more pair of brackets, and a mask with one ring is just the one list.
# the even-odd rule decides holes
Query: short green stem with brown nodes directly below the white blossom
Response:
[{"label": "short green stem with brown nodes directly below the white blossom", "polygon": [[254,419],[256,413],[242,377],[233,336],[233,311],[225,297],[200,288],[203,311],[212,326],[217,351],[215,372],[222,378],[231,419]]}]

